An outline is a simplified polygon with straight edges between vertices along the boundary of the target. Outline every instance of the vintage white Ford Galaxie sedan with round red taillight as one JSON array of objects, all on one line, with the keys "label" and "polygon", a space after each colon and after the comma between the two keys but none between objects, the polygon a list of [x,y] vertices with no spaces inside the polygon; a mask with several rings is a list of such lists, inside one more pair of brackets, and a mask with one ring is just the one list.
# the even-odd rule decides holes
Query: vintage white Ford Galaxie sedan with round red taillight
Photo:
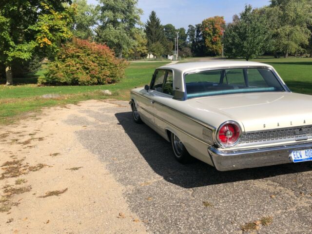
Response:
[{"label": "vintage white Ford Galaxie sedan with round red taillight", "polygon": [[162,66],[130,104],[182,163],[194,156],[228,171],[312,160],[312,96],[292,93],[267,64]]}]

